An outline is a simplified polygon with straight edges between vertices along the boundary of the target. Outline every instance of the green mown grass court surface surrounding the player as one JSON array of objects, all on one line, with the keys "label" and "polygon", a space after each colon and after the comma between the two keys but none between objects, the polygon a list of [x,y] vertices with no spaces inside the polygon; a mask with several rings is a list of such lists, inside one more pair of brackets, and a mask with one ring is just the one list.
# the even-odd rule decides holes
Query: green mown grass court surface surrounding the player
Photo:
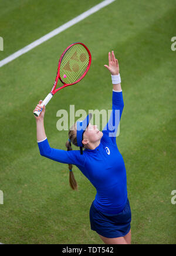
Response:
[{"label": "green mown grass court surface surrounding the player", "polygon": [[[1,0],[0,61],[100,2]],[[72,104],[75,111],[111,109],[113,87],[103,65],[114,50],[124,99],[117,146],[127,170],[131,242],[175,244],[175,12],[175,0],[116,0],[0,68],[0,242],[103,244],[89,222],[96,190],[74,166],[79,191],[72,191],[68,166],[40,156],[32,113],[52,87],[60,54],[80,41],[92,53],[92,66],[46,107],[50,146],[66,149],[57,110],[69,113]]]}]

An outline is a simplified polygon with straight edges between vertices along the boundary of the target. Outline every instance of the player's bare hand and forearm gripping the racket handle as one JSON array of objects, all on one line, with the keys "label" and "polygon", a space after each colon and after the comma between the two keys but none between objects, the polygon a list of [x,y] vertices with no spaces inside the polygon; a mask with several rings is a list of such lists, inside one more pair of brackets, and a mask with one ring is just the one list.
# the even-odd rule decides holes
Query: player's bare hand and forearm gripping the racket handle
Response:
[{"label": "player's bare hand and forearm gripping the racket handle", "polygon": [[45,133],[45,127],[44,127],[44,116],[45,116],[45,105],[43,105],[43,107],[40,106],[40,104],[42,103],[42,100],[39,101],[39,104],[35,107],[35,109],[33,110],[33,112],[37,111],[41,111],[40,116],[36,117],[36,133],[37,133],[37,140],[38,142],[45,140],[46,139],[46,133]]}]

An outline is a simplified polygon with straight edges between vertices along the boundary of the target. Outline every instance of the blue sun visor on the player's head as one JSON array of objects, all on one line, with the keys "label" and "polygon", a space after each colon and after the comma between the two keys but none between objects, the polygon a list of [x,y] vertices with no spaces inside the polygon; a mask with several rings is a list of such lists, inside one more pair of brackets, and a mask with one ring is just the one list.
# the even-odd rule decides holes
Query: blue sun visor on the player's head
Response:
[{"label": "blue sun visor on the player's head", "polygon": [[88,114],[88,116],[83,121],[77,121],[76,127],[76,139],[77,139],[77,146],[80,147],[80,153],[83,154],[83,133],[85,132],[87,126],[89,125],[90,119],[92,119],[92,114]]}]

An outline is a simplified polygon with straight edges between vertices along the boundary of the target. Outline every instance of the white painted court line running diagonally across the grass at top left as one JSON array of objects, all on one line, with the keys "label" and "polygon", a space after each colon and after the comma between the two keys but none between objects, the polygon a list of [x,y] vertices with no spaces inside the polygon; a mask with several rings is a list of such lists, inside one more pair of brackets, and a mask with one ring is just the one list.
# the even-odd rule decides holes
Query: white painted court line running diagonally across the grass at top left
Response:
[{"label": "white painted court line running diagonally across the grass at top left", "polygon": [[44,35],[43,37],[40,37],[38,40],[32,42],[31,44],[28,44],[26,47],[22,48],[19,51],[14,52],[12,55],[9,55],[8,57],[4,58],[4,60],[0,61],[0,67],[4,66],[5,64],[9,63],[12,60],[15,60],[15,58],[18,58],[22,54],[25,54],[26,52],[32,50],[36,46],[42,44],[42,42],[45,42],[49,40],[52,37],[55,37],[55,35],[58,35],[60,32],[66,30],[67,28],[72,27],[76,23],[82,21],[83,19],[89,17],[91,14],[94,14],[94,12],[99,11],[101,8],[103,8],[106,5],[111,4],[111,2],[114,2],[116,0],[104,0],[98,5],[93,6],[88,11],[83,12],[83,14],[80,14],[74,19],[71,19],[70,21],[66,22],[62,26],[54,29],[53,31],[49,32],[48,34]]}]

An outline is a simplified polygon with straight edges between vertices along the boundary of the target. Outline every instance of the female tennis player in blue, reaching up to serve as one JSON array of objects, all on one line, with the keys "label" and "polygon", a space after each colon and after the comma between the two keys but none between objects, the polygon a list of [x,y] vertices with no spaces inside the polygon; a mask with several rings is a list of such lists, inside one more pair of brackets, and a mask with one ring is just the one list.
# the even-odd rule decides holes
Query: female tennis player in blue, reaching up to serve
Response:
[{"label": "female tennis player in blue, reaching up to serve", "polygon": [[[43,119],[45,105],[42,101],[33,111],[41,111],[36,118],[37,140],[40,155],[60,163],[69,164],[70,186],[77,189],[72,171],[76,165],[96,188],[97,194],[90,207],[90,227],[99,234],[105,244],[131,244],[131,209],[127,198],[126,168],[116,144],[117,127],[123,111],[123,95],[119,63],[114,52],[109,52],[109,65],[113,83],[112,111],[109,122],[100,132],[90,123],[92,114],[70,127],[66,150],[49,146]],[[117,122],[119,120],[119,122]],[[72,144],[80,150],[72,150]],[[83,150],[84,148],[84,150]]]}]

